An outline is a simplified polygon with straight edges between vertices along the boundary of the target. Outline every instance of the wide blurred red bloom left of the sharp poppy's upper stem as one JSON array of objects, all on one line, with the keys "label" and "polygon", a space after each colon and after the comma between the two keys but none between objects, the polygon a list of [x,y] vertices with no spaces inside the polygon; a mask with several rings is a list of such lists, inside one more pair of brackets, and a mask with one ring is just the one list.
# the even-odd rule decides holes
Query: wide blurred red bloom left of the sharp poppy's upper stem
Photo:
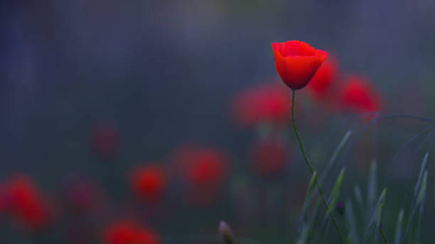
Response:
[{"label": "wide blurred red bloom left of the sharp poppy's upper stem", "polygon": [[259,122],[286,123],[291,113],[291,94],[279,84],[266,84],[242,91],[232,102],[238,123],[252,126]]}]

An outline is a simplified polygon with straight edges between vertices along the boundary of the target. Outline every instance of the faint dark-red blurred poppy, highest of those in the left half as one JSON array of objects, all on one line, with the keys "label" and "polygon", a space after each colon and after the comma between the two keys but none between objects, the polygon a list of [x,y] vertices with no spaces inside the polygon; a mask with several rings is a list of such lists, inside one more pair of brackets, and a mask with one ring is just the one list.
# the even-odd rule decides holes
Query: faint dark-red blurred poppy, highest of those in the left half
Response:
[{"label": "faint dark-red blurred poppy, highest of those in the left half", "polygon": [[110,124],[100,124],[91,131],[91,143],[95,153],[101,157],[114,157],[119,149],[117,130]]}]

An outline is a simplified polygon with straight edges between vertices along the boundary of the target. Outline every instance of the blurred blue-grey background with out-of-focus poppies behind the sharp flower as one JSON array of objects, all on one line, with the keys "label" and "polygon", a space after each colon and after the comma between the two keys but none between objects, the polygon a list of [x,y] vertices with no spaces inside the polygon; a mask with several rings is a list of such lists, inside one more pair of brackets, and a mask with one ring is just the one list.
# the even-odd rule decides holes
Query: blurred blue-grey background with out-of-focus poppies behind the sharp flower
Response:
[{"label": "blurred blue-grey background with out-of-focus poppies behind the sharp flower", "polygon": [[356,184],[366,201],[375,158],[393,240],[429,152],[414,235],[434,238],[434,122],[367,117],[435,118],[434,1],[16,0],[0,13],[8,243],[205,243],[195,238],[221,220],[240,237],[296,241],[310,173],[274,68],[271,43],[286,40],[329,54],[318,85],[296,92],[314,167],[353,131],[326,194],[345,167],[340,201],[355,201]]}]

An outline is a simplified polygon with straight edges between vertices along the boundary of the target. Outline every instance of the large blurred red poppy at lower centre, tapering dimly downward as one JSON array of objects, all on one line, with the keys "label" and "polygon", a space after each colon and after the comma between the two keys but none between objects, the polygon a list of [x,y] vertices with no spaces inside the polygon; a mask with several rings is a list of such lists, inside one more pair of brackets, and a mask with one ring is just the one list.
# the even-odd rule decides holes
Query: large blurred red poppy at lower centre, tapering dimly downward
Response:
[{"label": "large blurred red poppy at lower centre, tapering dimly downward", "polygon": [[228,171],[225,155],[212,148],[185,147],[177,151],[175,160],[188,186],[189,200],[199,205],[212,203]]}]

